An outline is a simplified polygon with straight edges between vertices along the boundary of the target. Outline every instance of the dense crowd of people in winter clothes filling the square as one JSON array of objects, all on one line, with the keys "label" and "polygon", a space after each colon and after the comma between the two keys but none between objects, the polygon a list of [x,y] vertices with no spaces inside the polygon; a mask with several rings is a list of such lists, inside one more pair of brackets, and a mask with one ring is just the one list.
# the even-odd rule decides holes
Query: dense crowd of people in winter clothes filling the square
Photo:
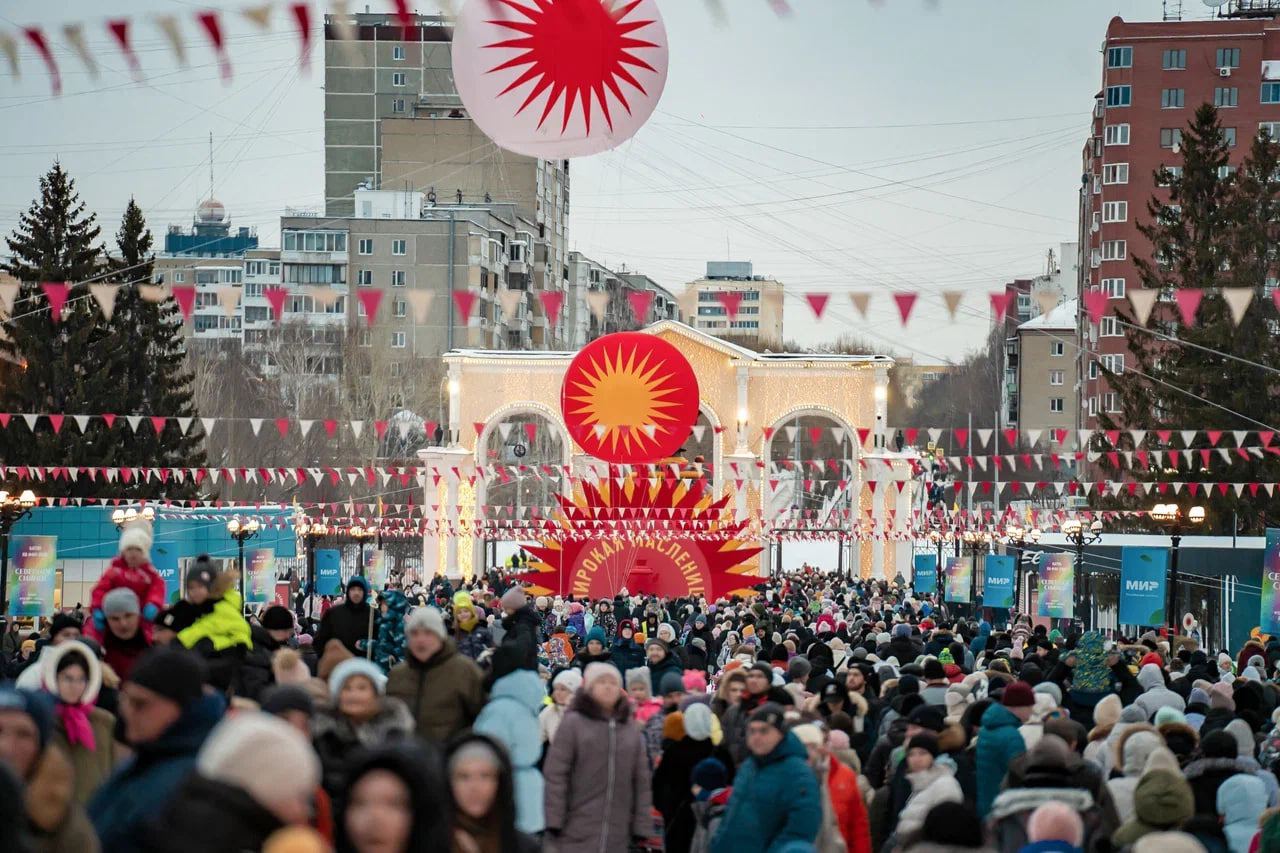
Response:
[{"label": "dense crowd of people in winter clothes filling the square", "polygon": [[1280,853],[1280,638],[997,629],[808,567],[246,617],[207,558],[165,607],[150,546],[0,633],[0,850]]}]

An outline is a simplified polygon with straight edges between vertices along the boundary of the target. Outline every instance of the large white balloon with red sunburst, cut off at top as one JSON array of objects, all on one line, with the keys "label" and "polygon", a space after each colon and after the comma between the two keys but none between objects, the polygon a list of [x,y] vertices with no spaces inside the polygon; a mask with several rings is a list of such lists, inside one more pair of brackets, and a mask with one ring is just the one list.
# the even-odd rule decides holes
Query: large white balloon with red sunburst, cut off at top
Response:
[{"label": "large white balloon with red sunburst, cut off at top", "polygon": [[504,149],[544,159],[621,145],[667,78],[655,0],[471,0],[453,36],[471,118]]}]

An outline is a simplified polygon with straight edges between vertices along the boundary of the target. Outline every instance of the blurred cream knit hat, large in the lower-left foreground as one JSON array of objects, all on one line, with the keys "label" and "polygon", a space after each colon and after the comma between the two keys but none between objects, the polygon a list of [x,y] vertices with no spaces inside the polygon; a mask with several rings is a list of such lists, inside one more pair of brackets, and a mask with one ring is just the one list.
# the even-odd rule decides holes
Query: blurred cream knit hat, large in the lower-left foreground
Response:
[{"label": "blurred cream knit hat, large in the lower-left foreground", "polygon": [[227,717],[196,756],[201,776],[242,789],[262,806],[307,800],[320,784],[311,743],[283,720],[260,711]]}]

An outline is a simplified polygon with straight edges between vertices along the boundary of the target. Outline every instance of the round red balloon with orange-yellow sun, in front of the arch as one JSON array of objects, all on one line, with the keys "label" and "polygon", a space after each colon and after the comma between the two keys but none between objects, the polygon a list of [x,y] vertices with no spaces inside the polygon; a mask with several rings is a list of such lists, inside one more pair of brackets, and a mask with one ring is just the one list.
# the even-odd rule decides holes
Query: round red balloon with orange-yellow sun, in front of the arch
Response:
[{"label": "round red balloon with orange-yellow sun, in front of the arch", "polygon": [[652,334],[621,332],[585,346],[561,386],[561,411],[582,450],[608,462],[672,456],[698,420],[698,377]]}]

